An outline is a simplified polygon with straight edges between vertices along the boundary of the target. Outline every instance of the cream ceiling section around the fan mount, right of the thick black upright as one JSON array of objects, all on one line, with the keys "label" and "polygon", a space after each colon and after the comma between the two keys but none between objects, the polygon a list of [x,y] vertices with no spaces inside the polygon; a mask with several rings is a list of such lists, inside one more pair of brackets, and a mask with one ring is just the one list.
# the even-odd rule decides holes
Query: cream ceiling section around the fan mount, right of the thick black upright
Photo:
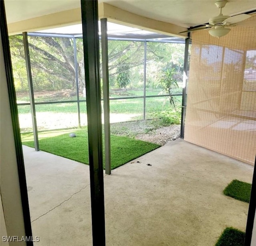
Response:
[{"label": "cream ceiling section around the fan mount, right of the thick black upright", "polygon": [[[104,0],[134,14],[155,20],[181,24],[204,24],[219,14],[215,0]],[[256,9],[255,0],[230,0],[223,10],[225,15],[241,14]]]}]

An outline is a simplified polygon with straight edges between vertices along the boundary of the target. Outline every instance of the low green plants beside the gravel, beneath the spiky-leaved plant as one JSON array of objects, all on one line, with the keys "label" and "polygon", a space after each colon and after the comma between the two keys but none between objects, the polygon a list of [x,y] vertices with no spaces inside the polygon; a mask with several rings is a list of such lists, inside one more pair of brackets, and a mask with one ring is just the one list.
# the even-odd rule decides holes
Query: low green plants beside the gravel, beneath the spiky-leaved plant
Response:
[{"label": "low green plants beside the gravel, beneath the spiky-leaved plant", "polygon": [[181,113],[173,112],[173,110],[163,110],[153,114],[153,124],[155,126],[170,126],[172,124],[180,124]]}]

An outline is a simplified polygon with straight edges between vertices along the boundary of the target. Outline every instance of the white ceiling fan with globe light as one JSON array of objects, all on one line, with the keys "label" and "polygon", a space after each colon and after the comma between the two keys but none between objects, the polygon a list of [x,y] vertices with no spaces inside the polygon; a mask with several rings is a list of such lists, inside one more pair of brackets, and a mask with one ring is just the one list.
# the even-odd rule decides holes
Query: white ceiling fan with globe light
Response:
[{"label": "white ceiling fan with globe light", "polygon": [[[196,27],[196,28],[191,28],[190,30],[187,31],[181,31],[180,33],[188,33],[192,31],[198,31],[198,30],[205,30],[205,29],[210,29],[209,33],[213,37],[223,37],[227,35],[230,32],[229,27],[233,26],[251,26],[251,23],[239,23],[242,22],[243,20],[246,20],[250,18],[251,16],[248,14],[239,14],[237,16],[224,16],[222,14],[222,8],[226,6],[226,3],[228,1],[217,1],[215,2],[215,5],[217,8],[220,9],[220,14],[218,16],[214,16],[213,18],[210,18],[208,24],[204,24],[204,26]],[[256,23],[254,24],[256,25]],[[179,33],[179,34],[180,34]]]}]

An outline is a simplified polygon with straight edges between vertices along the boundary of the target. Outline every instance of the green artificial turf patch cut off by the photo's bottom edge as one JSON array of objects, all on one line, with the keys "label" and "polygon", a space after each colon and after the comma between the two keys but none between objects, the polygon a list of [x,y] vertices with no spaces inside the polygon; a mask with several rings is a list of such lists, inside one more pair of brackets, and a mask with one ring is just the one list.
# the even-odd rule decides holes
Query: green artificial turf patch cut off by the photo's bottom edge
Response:
[{"label": "green artificial turf patch cut off by the photo's bottom edge", "polygon": [[245,233],[233,227],[227,227],[215,246],[244,246]]}]

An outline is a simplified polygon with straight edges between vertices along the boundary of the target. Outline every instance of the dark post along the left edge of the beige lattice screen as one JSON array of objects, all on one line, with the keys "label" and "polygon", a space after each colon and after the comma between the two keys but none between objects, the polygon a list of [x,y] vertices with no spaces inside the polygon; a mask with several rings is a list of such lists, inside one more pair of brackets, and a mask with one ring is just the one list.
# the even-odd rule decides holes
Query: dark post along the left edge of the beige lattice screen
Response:
[{"label": "dark post along the left edge of the beige lattice screen", "polygon": [[188,47],[190,39],[185,40],[185,53],[184,53],[184,69],[183,69],[183,88],[182,88],[182,106],[181,106],[181,124],[180,124],[180,138],[184,138],[185,116],[186,116],[186,89],[187,89],[187,76],[188,73]]}]

